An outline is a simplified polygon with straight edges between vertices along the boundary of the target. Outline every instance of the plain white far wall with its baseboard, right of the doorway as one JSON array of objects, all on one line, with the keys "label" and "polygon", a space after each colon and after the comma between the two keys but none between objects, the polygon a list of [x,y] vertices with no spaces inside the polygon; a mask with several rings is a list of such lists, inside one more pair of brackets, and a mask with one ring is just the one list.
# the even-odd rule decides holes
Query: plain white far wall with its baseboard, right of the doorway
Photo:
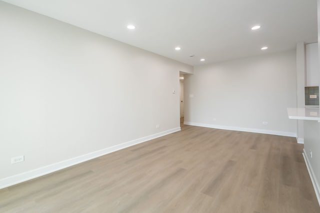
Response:
[{"label": "plain white far wall with its baseboard, right of the doorway", "polygon": [[294,50],[196,66],[184,79],[184,121],[295,136],[286,113],[296,106],[295,69]]}]

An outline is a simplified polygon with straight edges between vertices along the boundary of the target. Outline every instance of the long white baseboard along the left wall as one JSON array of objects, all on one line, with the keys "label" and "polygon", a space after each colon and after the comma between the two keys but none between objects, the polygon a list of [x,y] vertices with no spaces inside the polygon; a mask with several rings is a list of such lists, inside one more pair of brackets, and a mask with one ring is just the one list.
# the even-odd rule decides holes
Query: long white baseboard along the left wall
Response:
[{"label": "long white baseboard along the left wall", "polygon": [[97,158],[97,157],[100,157],[102,155],[106,155],[106,154],[109,154],[111,152],[115,152],[115,151],[130,147],[130,146],[133,146],[133,145],[136,145],[136,144],[140,144],[140,143],[143,143],[143,142],[146,142],[146,141],[149,141],[149,140],[152,140],[152,139],[164,136],[164,135],[168,135],[168,134],[180,131],[180,130],[181,130],[181,128],[177,127],[177,128],[174,128],[174,129],[170,129],[170,130],[164,131],[164,132],[156,133],[154,135],[149,135],[149,136],[146,136],[146,137],[143,137],[143,138],[139,138],[139,139],[136,139],[136,140],[128,141],[128,142],[125,142],[125,143],[122,143],[122,144],[119,144],[119,145],[115,145],[115,146],[112,146],[112,147],[108,147],[108,148],[105,148],[105,149],[102,149],[102,150],[98,150],[98,151],[95,151],[95,152],[91,152],[91,153],[87,153],[87,154],[84,154],[84,155],[81,155],[81,156],[77,156],[75,158],[71,158],[71,159],[68,159],[68,160],[65,160],[65,161],[61,161],[61,162],[58,162],[58,163],[55,163],[55,164],[44,166],[44,167],[41,167],[41,168],[38,168],[38,169],[35,169],[35,170],[31,170],[31,171],[20,173],[20,174],[14,175],[14,176],[10,176],[10,177],[7,177],[7,178],[4,178],[4,179],[0,180],[0,189],[6,188],[6,187],[9,187],[9,186],[12,186],[12,185],[24,182],[24,181],[28,181],[28,180],[31,180],[33,178],[37,178],[37,177],[40,177],[42,175],[46,175],[46,174],[49,174],[49,173],[52,173],[52,172],[55,172],[55,171],[58,171],[58,170],[73,166],[75,164],[79,164],[79,163],[82,163],[84,161],[88,161],[88,160],[91,160],[93,158]]}]

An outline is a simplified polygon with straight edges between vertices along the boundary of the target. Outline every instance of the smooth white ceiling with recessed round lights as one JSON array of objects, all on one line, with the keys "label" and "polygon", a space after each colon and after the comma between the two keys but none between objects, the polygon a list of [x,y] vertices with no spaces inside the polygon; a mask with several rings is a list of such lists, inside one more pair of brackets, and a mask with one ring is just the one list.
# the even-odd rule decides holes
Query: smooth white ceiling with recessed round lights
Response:
[{"label": "smooth white ceiling with recessed round lights", "polygon": [[[316,0],[3,1],[190,65],[317,41]],[[251,31],[255,24],[261,28]]]}]

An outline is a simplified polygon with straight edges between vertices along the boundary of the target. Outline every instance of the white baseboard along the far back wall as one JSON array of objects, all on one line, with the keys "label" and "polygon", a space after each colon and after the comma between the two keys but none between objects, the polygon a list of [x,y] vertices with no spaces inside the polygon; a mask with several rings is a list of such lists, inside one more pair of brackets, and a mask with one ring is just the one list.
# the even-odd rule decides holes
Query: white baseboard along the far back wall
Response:
[{"label": "white baseboard along the far back wall", "polygon": [[252,128],[242,128],[242,127],[231,127],[231,126],[220,126],[220,125],[213,125],[213,124],[201,124],[201,123],[194,123],[194,122],[183,122],[185,125],[191,126],[198,126],[198,127],[208,127],[214,129],[223,129],[223,130],[234,130],[234,131],[241,131],[241,132],[254,132],[254,133],[262,133],[262,134],[269,134],[269,135],[281,135],[281,136],[288,136],[288,137],[296,137],[296,133],[294,132],[281,132],[281,131],[274,131],[274,130],[266,130],[266,129],[252,129]]}]

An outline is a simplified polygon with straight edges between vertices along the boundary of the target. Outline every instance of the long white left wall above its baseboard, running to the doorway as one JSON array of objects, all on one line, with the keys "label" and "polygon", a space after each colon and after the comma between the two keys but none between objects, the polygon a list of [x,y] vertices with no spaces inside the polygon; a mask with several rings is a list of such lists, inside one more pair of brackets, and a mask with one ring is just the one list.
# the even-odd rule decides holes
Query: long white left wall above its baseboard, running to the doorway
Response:
[{"label": "long white left wall above its baseboard, running to the doorway", "polygon": [[0,1],[0,179],[179,128],[179,71],[192,67]]}]

